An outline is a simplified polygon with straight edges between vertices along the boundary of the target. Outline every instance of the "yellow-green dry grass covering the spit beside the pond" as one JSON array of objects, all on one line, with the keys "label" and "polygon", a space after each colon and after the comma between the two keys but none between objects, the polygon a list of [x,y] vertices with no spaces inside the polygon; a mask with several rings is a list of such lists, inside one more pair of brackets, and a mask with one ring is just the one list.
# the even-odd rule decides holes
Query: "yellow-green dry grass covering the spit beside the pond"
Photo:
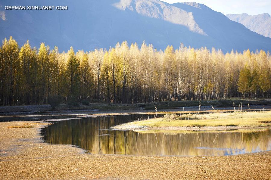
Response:
[{"label": "yellow-green dry grass covering the spit beside the pond", "polygon": [[148,127],[271,126],[271,111],[167,115],[164,118],[135,121],[129,125]]}]

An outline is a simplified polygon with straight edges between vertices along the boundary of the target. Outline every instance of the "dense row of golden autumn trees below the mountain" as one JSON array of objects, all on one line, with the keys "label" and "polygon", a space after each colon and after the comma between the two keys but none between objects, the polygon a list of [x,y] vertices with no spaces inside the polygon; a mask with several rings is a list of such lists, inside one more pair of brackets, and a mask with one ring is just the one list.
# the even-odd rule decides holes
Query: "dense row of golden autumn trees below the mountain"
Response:
[{"label": "dense row of golden autumn trees below the mountain", "polygon": [[139,103],[222,98],[270,98],[271,56],[263,50],[162,50],[126,41],[110,49],[59,52],[44,43],[0,48],[0,105]]}]

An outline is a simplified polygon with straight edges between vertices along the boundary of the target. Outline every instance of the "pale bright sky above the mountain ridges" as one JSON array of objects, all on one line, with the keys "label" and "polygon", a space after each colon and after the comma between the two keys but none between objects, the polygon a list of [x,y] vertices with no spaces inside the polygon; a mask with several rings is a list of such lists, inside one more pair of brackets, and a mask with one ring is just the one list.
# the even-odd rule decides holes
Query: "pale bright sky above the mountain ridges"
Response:
[{"label": "pale bright sky above the mountain ridges", "polygon": [[198,2],[208,6],[214,11],[223,14],[241,14],[256,15],[268,13],[271,15],[271,0],[162,0],[167,3],[175,2]]}]

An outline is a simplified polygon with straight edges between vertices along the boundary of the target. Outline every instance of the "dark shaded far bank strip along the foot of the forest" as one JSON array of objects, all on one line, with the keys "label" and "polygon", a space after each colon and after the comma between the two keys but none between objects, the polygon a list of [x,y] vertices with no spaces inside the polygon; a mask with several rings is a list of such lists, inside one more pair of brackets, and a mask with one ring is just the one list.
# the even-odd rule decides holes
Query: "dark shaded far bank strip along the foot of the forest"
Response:
[{"label": "dark shaded far bank strip along the foot of the forest", "polygon": [[[271,106],[271,99],[251,99],[251,100],[210,100],[201,101],[201,108],[203,110],[212,110],[215,107],[217,110],[233,110],[233,102],[235,108],[242,103],[243,110],[249,109],[265,109]],[[97,111],[117,111],[117,110],[130,110],[130,111],[155,111],[157,110],[198,110],[199,101],[164,101],[152,103],[137,103],[137,104],[106,104],[106,103],[91,103],[89,106],[79,104],[78,107],[69,107],[67,104],[61,104],[56,110],[52,110],[48,104],[44,105],[21,105],[21,106],[0,106],[0,115],[8,114],[45,114],[45,113],[78,113],[78,112],[97,112]],[[241,108],[241,106],[240,106]]]}]

